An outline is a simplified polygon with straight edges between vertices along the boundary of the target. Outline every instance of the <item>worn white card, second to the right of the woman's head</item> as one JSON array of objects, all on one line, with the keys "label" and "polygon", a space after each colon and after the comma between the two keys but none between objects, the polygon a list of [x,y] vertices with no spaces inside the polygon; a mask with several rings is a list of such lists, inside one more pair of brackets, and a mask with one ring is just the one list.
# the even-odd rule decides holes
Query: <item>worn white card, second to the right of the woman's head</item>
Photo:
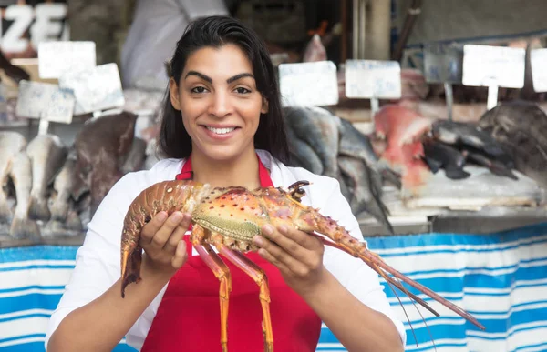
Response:
[{"label": "worn white card, second to the right of the woman's head", "polygon": [[348,98],[400,98],[401,66],[397,61],[347,60],[346,96]]}]

